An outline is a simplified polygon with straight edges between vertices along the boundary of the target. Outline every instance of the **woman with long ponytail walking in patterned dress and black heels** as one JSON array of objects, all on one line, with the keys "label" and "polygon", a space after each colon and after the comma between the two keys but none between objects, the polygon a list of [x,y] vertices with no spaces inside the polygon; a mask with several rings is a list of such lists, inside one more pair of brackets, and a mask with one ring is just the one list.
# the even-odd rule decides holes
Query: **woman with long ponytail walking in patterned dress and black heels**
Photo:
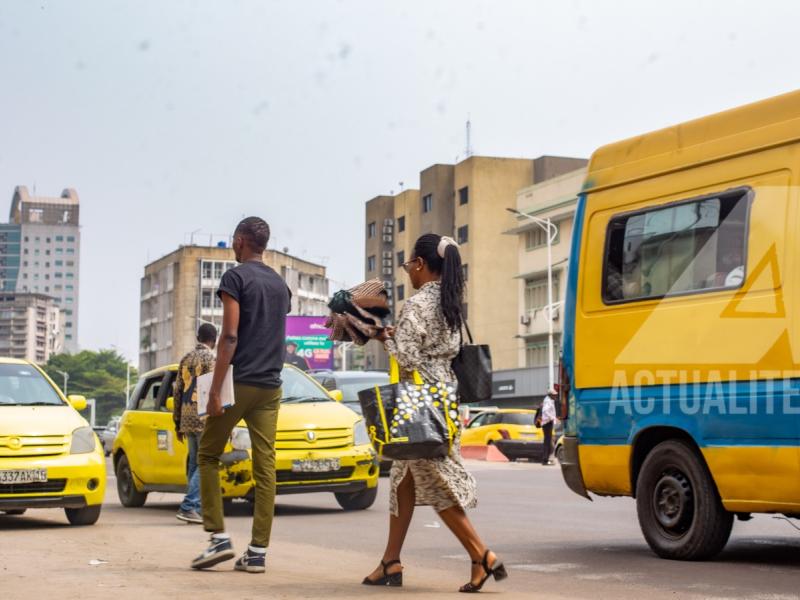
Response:
[{"label": "woman with long ponytail walking in patterned dress and black heels", "polygon": [[[397,360],[402,380],[417,371],[428,382],[455,381],[450,364],[461,345],[464,277],[458,245],[449,237],[420,237],[413,257],[403,264],[419,292],[409,298],[395,328],[378,338]],[[461,462],[458,437],[449,456],[395,460],[390,475],[389,539],[380,565],[365,585],[403,584],[400,551],[415,505],[428,505],[455,534],[472,561],[470,581],[461,592],[478,592],[489,577],[508,575],[500,559],[483,543],[465,510],[477,503],[475,480]]]}]

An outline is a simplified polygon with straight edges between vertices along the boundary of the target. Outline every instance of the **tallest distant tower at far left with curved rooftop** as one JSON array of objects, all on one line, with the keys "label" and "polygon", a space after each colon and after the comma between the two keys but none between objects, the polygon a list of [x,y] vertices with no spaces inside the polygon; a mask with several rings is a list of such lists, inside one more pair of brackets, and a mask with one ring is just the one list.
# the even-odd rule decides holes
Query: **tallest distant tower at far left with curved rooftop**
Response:
[{"label": "tallest distant tower at far left with curved rooftop", "polygon": [[78,349],[80,203],[73,189],[31,196],[17,186],[0,225],[0,290],[43,294],[64,312],[64,350]]}]

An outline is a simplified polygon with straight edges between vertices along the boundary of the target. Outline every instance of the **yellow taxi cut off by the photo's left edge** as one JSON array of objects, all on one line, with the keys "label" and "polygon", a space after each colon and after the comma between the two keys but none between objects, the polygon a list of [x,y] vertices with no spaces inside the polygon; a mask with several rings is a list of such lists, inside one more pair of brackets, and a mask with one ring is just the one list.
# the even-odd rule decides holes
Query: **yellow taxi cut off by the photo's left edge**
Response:
[{"label": "yellow taxi cut off by the photo's left edge", "polygon": [[97,521],[106,465],[84,408],[39,367],[0,358],[0,512],[63,508],[72,525]]}]

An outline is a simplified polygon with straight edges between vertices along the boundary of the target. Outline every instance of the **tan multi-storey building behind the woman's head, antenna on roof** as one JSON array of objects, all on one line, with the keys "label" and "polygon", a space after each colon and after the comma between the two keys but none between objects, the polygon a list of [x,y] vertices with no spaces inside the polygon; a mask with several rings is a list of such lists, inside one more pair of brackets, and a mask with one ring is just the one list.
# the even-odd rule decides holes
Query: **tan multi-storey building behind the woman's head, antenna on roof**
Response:
[{"label": "tan multi-storey building behind the woman's head, antenna on roof", "polygon": [[[488,343],[496,369],[517,366],[519,340],[518,242],[503,233],[514,226],[505,210],[517,192],[534,182],[585,164],[582,159],[543,156],[535,160],[472,156],[458,164],[436,164],[420,173],[419,189],[378,196],[366,205],[367,279],[391,288],[395,315],[413,293],[399,268],[424,233],[458,241],[467,281],[465,309],[476,340]],[[390,266],[387,260],[391,258]],[[369,368],[385,368],[377,344],[367,352]]]}]

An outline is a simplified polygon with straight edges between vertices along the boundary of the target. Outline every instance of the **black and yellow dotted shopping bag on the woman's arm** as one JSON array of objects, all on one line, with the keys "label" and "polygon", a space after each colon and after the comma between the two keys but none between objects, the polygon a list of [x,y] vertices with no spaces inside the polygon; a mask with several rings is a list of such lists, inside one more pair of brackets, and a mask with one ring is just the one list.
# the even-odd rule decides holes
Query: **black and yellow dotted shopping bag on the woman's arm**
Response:
[{"label": "black and yellow dotted shopping bag on the woman's arm", "polygon": [[379,455],[397,460],[440,458],[450,453],[458,434],[458,401],[453,383],[400,381],[391,359],[389,385],[358,393],[372,445]]}]

